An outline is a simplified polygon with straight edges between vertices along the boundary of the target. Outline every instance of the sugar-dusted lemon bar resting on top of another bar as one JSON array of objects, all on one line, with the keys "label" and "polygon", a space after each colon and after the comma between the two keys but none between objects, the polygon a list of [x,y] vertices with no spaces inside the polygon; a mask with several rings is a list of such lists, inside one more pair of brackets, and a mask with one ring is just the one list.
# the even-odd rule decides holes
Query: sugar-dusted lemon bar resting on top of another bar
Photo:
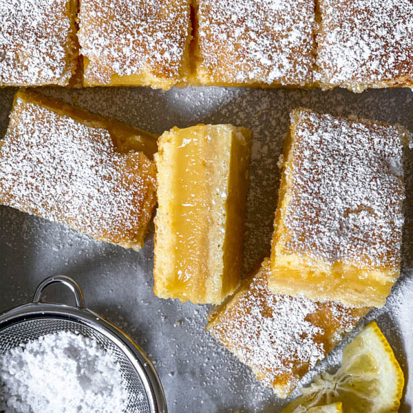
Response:
[{"label": "sugar-dusted lemon bar resting on top of another bar", "polygon": [[308,109],[290,120],[269,288],[383,306],[400,275],[409,132]]}]

